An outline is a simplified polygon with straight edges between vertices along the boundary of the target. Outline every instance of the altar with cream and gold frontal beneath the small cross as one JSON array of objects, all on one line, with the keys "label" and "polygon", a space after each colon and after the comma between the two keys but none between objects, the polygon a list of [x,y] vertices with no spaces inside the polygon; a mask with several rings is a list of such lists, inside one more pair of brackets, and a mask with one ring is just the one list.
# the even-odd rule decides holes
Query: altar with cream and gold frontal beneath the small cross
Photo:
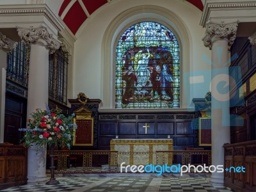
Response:
[{"label": "altar with cream and gold frontal beneath the small cross", "polygon": [[[172,151],[171,139],[113,139],[110,141],[110,150],[118,151],[117,163],[134,165],[172,164],[172,153],[159,151]],[[111,157],[112,158],[112,157]]]}]

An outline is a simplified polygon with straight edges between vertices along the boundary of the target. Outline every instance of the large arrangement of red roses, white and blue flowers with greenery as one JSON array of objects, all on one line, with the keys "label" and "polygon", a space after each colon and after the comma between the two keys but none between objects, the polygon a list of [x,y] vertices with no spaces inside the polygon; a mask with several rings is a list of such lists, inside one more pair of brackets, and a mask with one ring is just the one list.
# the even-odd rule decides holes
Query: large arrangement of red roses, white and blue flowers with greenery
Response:
[{"label": "large arrangement of red roses, white and blue flowers with greenery", "polygon": [[51,113],[48,106],[45,111],[36,109],[28,119],[28,128],[19,129],[25,132],[22,141],[27,147],[34,143],[38,146],[47,144],[70,148],[76,129],[73,117],[74,115],[63,115],[60,109],[55,109],[54,113]]}]

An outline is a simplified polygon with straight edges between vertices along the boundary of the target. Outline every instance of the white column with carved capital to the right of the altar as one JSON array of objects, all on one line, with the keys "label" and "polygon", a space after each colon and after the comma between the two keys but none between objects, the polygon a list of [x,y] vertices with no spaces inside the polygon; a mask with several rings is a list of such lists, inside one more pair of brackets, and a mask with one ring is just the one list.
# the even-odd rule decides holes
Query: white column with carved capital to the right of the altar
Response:
[{"label": "white column with carved capital to the right of the altar", "polygon": [[[236,38],[237,22],[207,24],[204,37],[205,47],[212,49],[212,81],[211,81],[211,121],[212,121],[212,165],[224,166],[224,143],[230,143],[230,95],[220,92],[218,86],[221,81],[229,85],[228,50]],[[223,88],[225,89],[225,87]],[[225,170],[224,170],[225,172]],[[224,173],[214,172],[211,182],[223,184]]]}]

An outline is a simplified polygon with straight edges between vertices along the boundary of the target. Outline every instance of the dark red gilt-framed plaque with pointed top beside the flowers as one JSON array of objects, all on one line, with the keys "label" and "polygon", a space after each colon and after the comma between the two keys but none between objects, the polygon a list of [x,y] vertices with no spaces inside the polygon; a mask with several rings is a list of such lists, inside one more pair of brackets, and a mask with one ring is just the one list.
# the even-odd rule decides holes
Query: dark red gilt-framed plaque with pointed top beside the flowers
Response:
[{"label": "dark red gilt-framed plaque with pointed top beside the flowers", "polygon": [[77,129],[74,131],[74,146],[93,146],[93,118],[92,111],[82,106],[74,111],[76,118],[74,123]]}]

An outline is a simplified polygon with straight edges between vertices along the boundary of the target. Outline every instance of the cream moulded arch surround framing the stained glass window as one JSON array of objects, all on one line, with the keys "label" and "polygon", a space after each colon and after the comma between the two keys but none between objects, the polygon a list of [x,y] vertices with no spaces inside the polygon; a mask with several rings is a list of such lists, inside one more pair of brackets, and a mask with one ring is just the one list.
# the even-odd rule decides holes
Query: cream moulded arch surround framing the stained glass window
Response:
[{"label": "cream moulded arch surround framing the stained glass window", "polygon": [[[136,6],[126,10],[112,20],[102,40],[102,89],[100,95],[102,97],[103,109],[116,108],[115,53],[118,39],[132,25],[139,22],[147,22],[148,20],[157,22],[170,29],[175,38],[177,38],[180,49],[180,63],[182,63],[180,65],[180,79],[182,79],[182,72],[189,71],[189,47],[191,46],[189,42],[191,36],[189,36],[186,24],[178,15],[160,6]],[[147,49],[145,50],[147,52]],[[184,82],[180,81],[179,107],[189,108],[189,104],[186,103],[186,97],[189,97],[189,93],[183,93],[185,93]]]}]

